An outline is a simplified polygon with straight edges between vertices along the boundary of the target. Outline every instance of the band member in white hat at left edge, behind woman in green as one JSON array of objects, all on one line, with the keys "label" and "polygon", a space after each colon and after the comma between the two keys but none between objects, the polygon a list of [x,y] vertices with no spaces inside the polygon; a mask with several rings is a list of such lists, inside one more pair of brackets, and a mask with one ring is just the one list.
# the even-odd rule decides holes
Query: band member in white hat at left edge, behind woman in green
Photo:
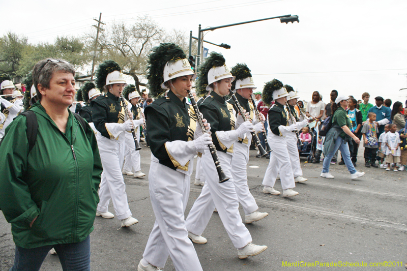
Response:
[{"label": "band member in white hat at left edge, behind woman in green", "polygon": [[12,97],[15,88],[11,80],[4,80],[0,84],[0,95],[6,95],[0,96],[0,112],[4,114],[4,122],[0,124],[0,138],[3,138],[7,126],[9,126],[23,108],[22,100]]}]

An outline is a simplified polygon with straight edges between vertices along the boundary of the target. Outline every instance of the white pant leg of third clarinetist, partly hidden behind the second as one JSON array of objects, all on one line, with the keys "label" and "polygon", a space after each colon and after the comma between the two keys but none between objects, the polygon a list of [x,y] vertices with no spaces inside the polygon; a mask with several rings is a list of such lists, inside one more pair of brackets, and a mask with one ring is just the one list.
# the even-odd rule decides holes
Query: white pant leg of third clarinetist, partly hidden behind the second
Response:
[{"label": "white pant leg of third clarinetist, partly hidden behind the second", "polygon": [[236,142],[233,144],[232,176],[239,202],[246,215],[258,209],[256,201],[247,185],[247,163],[249,163],[249,146]]}]

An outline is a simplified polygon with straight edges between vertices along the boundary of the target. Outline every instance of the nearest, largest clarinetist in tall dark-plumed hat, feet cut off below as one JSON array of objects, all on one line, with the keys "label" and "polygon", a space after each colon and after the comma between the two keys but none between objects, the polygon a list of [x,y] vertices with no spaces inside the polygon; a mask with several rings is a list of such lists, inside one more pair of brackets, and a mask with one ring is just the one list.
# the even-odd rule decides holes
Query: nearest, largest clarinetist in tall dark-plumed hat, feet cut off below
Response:
[{"label": "nearest, largest clarinetist in tall dark-plumed hat, feet cut off below", "polygon": [[[197,152],[205,153],[212,139],[196,127],[193,107],[186,103],[196,74],[184,51],[175,44],[162,43],[153,49],[148,63],[150,95],[160,97],[144,109],[152,153],[150,197],[156,221],[137,270],[161,270],[169,255],[177,271],[199,271],[202,267],[188,239],[184,212],[193,158]],[[168,94],[162,97],[166,89]]]}]

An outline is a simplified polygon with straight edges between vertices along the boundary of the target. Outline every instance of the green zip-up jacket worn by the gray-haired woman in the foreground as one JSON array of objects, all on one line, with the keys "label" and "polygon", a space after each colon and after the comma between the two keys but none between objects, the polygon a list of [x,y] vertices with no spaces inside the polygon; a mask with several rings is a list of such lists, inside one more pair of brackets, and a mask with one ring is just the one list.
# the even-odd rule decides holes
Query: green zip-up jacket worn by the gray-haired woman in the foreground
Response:
[{"label": "green zip-up jacket worn by the gray-haired woman in the foreground", "polygon": [[[0,208],[22,248],[78,243],[93,230],[102,164],[92,129],[85,134],[69,111],[62,133],[37,102],[38,134],[28,153],[25,116],[0,145]],[[37,217],[33,226],[30,222]]]}]

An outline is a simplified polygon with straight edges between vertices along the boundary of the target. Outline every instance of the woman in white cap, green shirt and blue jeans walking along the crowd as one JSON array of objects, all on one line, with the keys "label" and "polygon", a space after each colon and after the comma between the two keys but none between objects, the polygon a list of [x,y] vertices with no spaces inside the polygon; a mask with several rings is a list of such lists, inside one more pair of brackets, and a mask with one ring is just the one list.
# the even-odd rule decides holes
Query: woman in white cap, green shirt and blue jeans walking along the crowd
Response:
[{"label": "woman in white cap, green shirt and blue jeans walking along the crowd", "polygon": [[346,113],[346,108],[348,100],[351,97],[339,95],[335,103],[332,103],[332,126],[327,132],[324,143],[324,164],[322,166],[321,177],[333,179],[334,176],[329,173],[329,165],[331,164],[331,159],[339,149],[342,154],[343,161],[347,167],[347,170],[351,173],[351,178],[356,179],[363,176],[364,172],[356,171],[352,160],[351,153],[349,151],[348,142],[352,139],[356,144],[360,143],[360,139],[351,131],[351,119]]}]

